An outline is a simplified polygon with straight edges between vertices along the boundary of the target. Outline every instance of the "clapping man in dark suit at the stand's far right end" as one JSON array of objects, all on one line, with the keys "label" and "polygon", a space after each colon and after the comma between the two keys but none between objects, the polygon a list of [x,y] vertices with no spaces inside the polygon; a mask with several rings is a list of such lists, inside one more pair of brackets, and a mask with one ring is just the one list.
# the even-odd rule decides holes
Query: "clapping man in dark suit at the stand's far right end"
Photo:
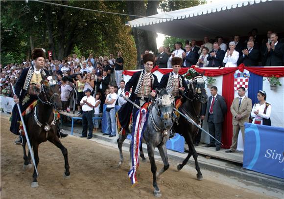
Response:
[{"label": "clapping man in dark suit at the stand's far right end", "polygon": [[283,66],[284,45],[278,42],[276,33],[271,33],[270,44],[266,43],[264,58],[266,58],[265,66]]}]

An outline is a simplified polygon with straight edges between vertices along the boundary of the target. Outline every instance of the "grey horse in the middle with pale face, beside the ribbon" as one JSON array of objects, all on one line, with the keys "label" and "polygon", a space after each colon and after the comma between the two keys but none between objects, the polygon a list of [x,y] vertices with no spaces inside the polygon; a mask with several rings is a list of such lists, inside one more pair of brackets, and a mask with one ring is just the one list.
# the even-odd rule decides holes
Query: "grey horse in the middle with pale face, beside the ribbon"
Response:
[{"label": "grey horse in the middle with pale face, beside the ribbon", "polygon": [[[154,195],[156,197],[162,196],[161,191],[157,184],[157,178],[161,176],[168,168],[168,158],[166,154],[166,141],[169,137],[169,131],[173,125],[173,107],[174,99],[171,95],[171,91],[166,91],[165,88],[157,91],[156,101],[149,106],[149,116],[147,125],[143,133],[142,142],[147,145],[147,152],[151,164],[151,172],[153,175],[153,187]],[[122,143],[127,137],[129,130],[126,130],[124,135],[120,134],[118,138],[118,149],[120,161],[118,166],[121,166],[123,162],[122,155]],[[157,166],[155,163],[154,149],[158,148],[161,158],[164,163],[164,167],[156,174]],[[141,147],[142,149],[142,147]],[[141,152],[141,151],[140,151]]]}]

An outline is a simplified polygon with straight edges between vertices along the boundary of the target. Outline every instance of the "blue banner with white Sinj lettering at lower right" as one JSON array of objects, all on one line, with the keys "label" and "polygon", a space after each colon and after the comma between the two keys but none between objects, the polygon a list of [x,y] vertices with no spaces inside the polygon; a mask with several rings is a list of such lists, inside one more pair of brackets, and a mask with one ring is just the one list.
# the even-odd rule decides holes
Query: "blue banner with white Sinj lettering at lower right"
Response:
[{"label": "blue banner with white Sinj lettering at lower right", "polygon": [[284,178],[284,128],[245,123],[243,168]]}]

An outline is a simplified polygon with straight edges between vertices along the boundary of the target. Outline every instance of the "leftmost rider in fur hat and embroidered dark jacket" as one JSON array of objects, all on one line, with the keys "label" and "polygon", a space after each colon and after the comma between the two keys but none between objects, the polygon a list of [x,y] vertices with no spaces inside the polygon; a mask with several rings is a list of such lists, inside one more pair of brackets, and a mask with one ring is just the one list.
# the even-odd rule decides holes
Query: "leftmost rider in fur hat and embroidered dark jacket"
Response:
[{"label": "leftmost rider in fur hat and embroidered dark jacket", "polygon": [[[24,112],[34,100],[38,99],[37,93],[41,87],[41,81],[47,78],[48,71],[43,69],[45,64],[45,52],[40,48],[35,48],[32,51],[32,59],[34,60],[34,66],[24,68],[21,76],[15,84],[14,101],[20,104],[21,111]],[[17,137],[15,143],[22,144],[22,134],[19,132],[21,117],[15,104],[11,115],[11,127],[10,131]],[[59,134],[60,133],[60,134]],[[66,137],[68,134],[64,134],[58,131],[60,137]]]}]

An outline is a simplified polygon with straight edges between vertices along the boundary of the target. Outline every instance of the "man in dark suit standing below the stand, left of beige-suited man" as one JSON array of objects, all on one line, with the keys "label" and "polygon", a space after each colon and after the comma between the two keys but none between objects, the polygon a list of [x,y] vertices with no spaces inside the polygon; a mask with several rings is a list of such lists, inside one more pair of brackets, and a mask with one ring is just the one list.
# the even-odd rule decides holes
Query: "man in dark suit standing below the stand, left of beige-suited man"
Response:
[{"label": "man in dark suit standing below the stand, left of beige-suited man", "polygon": [[[211,87],[211,95],[208,99],[207,109],[208,112],[208,127],[209,133],[219,142],[221,142],[222,137],[222,122],[224,121],[224,115],[227,112],[227,105],[224,98],[219,95],[217,87]],[[202,115],[201,117],[205,117]],[[216,147],[216,151],[220,151],[220,143],[215,141],[210,137],[210,144],[205,145],[205,147]]]}]

